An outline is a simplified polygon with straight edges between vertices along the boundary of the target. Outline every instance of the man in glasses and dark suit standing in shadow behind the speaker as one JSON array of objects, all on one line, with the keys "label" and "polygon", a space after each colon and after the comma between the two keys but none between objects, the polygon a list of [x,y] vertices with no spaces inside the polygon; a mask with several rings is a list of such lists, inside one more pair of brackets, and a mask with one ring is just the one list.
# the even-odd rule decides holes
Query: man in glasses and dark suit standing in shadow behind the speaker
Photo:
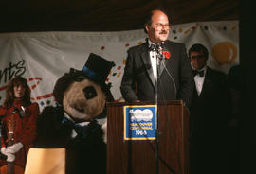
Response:
[{"label": "man in glasses and dark suit standing in shadow behind the speaker", "polygon": [[224,73],[207,66],[209,52],[202,44],[189,50],[194,76],[191,112],[191,174],[226,173],[225,135],[230,96]]}]

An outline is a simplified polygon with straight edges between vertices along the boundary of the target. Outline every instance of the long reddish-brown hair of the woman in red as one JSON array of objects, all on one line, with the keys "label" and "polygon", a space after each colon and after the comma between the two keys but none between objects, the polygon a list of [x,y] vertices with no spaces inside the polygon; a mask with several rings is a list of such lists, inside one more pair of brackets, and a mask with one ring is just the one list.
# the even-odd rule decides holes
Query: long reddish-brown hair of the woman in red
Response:
[{"label": "long reddish-brown hair of the woman in red", "polygon": [[30,101],[31,91],[29,86],[27,85],[27,79],[17,76],[9,81],[9,85],[6,90],[6,99],[4,101],[3,107],[5,108],[12,107],[13,102],[15,100],[14,86],[18,86],[18,85],[22,85],[25,87],[25,93],[24,93],[24,96],[22,97],[22,104],[23,105],[31,104],[31,101]]}]

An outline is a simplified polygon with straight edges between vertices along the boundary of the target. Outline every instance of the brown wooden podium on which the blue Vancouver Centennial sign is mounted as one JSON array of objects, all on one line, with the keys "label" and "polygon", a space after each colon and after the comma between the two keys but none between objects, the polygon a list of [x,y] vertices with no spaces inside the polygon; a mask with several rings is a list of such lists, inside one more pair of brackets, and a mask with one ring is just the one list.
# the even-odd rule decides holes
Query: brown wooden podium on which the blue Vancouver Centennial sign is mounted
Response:
[{"label": "brown wooden podium on which the blue Vancouver Centennial sign is mounted", "polygon": [[[155,174],[155,140],[124,140],[124,106],[107,103],[107,174]],[[181,100],[158,101],[159,174],[189,174],[189,115]]]}]

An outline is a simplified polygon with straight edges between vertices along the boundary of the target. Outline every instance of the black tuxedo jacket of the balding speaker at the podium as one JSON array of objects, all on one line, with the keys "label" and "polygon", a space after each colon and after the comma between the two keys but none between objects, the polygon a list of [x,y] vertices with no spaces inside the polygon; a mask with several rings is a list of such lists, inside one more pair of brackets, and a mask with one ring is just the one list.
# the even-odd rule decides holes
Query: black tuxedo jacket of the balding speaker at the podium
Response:
[{"label": "black tuxedo jacket of the balding speaker at the podium", "polygon": [[166,41],[165,49],[171,53],[159,71],[157,88],[149,54],[148,43],[128,50],[128,57],[121,81],[121,94],[126,101],[182,99],[188,106],[192,97],[192,68],[182,43]]}]

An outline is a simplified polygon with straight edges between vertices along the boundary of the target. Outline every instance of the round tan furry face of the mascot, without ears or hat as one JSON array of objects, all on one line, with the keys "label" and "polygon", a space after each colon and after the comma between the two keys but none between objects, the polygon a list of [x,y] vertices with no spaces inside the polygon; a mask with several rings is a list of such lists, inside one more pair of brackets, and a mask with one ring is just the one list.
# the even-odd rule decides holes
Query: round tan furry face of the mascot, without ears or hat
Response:
[{"label": "round tan furry face of the mascot, without ears or hat", "polygon": [[74,81],[64,92],[63,106],[76,122],[92,120],[104,110],[106,96],[99,84],[90,79]]}]

